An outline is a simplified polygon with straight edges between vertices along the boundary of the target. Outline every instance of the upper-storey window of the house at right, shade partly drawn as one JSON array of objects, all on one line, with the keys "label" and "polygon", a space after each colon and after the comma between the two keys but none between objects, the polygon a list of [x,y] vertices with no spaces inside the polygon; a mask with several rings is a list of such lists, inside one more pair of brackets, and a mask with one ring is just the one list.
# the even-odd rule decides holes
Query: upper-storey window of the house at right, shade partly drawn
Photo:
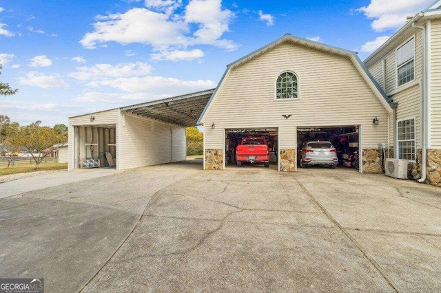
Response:
[{"label": "upper-storey window of the house at right, shade partly drawn", "polygon": [[415,38],[410,39],[399,47],[397,58],[398,87],[415,79]]}]

